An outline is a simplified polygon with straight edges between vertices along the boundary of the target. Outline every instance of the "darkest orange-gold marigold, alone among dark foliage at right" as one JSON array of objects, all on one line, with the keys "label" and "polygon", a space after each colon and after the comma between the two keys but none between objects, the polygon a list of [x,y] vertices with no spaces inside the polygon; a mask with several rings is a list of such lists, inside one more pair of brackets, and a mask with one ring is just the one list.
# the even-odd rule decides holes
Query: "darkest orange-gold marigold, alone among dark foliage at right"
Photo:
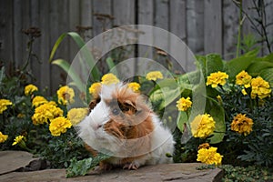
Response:
[{"label": "darkest orange-gold marigold, alone among dark foliage at right", "polygon": [[231,130],[247,136],[252,131],[253,120],[246,115],[238,114],[233,118]]}]

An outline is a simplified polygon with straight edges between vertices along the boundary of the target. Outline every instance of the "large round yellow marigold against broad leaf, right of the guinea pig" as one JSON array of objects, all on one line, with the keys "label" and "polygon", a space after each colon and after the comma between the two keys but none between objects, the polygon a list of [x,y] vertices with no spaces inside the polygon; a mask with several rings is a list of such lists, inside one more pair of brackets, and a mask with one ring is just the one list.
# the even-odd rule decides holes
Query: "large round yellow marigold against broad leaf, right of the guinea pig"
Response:
[{"label": "large round yellow marigold against broad leaf, right of the guinea pig", "polygon": [[194,137],[207,137],[213,133],[215,129],[215,121],[212,116],[197,115],[190,124],[191,133]]}]

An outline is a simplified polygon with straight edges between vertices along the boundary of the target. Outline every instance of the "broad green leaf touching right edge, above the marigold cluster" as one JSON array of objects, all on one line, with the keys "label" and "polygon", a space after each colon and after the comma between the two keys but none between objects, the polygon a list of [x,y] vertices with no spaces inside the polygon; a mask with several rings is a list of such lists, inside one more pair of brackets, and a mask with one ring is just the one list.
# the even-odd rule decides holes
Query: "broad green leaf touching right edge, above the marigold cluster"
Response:
[{"label": "broad green leaf touching right edge, above the marigold cluster", "polygon": [[248,74],[251,76],[258,76],[264,69],[273,67],[273,62],[257,61],[248,66]]}]

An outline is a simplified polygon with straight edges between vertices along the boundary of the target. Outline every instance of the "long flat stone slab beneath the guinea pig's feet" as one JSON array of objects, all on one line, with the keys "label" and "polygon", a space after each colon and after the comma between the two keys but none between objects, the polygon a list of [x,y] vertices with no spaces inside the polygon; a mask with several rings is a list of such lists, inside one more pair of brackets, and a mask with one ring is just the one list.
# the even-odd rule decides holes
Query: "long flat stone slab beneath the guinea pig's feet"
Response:
[{"label": "long flat stone slab beneath the guinea pig's feet", "polygon": [[12,172],[0,176],[0,181],[220,181],[221,169],[197,170],[200,163],[164,164],[140,167],[138,170],[115,169],[106,172],[91,171],[85,177],[66,178],[65,169],[46,169],[34,172]]}]

